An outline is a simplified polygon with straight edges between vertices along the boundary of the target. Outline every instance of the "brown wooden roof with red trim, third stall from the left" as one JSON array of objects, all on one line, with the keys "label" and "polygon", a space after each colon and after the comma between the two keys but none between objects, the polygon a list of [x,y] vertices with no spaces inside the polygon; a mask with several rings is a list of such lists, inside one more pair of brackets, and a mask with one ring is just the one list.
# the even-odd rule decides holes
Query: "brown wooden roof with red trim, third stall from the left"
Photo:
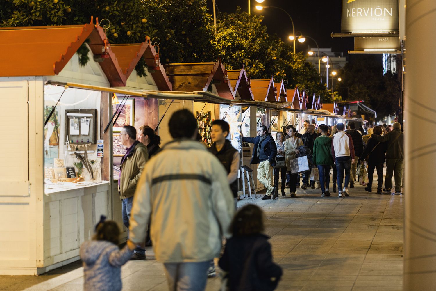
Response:
[{"label": "brown wooden roof with red trim, third stall from the left", "polygon": [[164,67],[174,91],[206,92],[213,84],[218,96],[234,99],[230,81],[225,82],[225,68],[221,60],[215,63],[174,63]]}]

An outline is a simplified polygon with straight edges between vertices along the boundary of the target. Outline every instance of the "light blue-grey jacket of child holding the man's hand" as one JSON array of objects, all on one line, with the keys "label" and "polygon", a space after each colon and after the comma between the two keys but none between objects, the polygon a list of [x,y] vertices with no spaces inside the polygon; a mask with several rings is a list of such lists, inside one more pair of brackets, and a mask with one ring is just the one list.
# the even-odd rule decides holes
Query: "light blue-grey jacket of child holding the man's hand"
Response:
[{"label": "light blue-grey jacket of child holding the man's hand", "polygon": [[127,263],[133,251],[127,245],[119,247],[106,240],[90,240],[80,246],[80,258],[85,272],[85,291],[120,291],[121,266]]}]

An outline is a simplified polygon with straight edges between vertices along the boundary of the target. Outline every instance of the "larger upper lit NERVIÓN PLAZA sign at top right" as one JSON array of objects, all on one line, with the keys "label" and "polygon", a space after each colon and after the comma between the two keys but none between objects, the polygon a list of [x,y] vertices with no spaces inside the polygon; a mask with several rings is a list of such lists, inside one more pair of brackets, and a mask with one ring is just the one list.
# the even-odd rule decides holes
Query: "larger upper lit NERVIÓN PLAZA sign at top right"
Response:
[{"label": "larger upper lit NERVI\u00d3N PLAZA sign at top right", "polygon": [[342,0],[342,33],[398,32],[398,0]]}]

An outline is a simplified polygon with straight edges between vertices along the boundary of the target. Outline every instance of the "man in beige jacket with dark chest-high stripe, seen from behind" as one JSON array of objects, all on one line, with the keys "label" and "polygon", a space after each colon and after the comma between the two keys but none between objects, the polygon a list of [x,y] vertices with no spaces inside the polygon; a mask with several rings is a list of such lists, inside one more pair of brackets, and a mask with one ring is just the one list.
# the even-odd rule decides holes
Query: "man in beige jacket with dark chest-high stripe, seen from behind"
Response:
[{"label": "man in beige jacket with dark chest-high stripe, seen from behind", "polygon": [[150,236],[169,289],[202,291],[221,238],[229,236],[235,202],[223,165],[195,140],[194,115],[175,112],[169,128],[174,140],[146,164],[138,182],[129,238],[144,240],[151,215]]}]

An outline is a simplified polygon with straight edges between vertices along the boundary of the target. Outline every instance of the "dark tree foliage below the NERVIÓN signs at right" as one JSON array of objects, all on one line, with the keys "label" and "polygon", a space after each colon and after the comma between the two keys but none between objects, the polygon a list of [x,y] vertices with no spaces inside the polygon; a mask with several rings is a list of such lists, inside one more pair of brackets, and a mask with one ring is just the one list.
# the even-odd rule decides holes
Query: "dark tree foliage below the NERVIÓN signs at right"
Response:
[{"label": "dark tree foliage below the NERVI\u00d3N signs at right", "polygon": [[356,55],[345,65],[343,80],[337,90],[348,101],[364,100],[379,118],[399,113],[401,82],[399,76],[388,71],[383,75],[381,59],[377,55]]}]

